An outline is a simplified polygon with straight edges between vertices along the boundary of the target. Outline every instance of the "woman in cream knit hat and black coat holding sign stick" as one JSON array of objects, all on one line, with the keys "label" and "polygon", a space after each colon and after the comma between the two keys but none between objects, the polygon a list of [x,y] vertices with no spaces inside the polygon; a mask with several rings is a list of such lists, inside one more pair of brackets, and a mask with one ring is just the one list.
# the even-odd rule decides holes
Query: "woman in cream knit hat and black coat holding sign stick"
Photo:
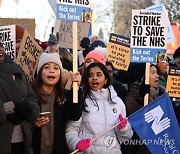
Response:
[{"label": "woman in cream knit hat and black coat holding sign stick", "polygon": [[[34,153],[68,154],[65,124],[67,120],[79,120],[82,105],[73,103],[72,91],[65,91],[66,77],[58,53],[42,53],[37,74],[32,87],[38,96],[41,112],[50,114],[40,115],[34,121]],[[74,82],[80,82],[78,72],[71,75]]]}]

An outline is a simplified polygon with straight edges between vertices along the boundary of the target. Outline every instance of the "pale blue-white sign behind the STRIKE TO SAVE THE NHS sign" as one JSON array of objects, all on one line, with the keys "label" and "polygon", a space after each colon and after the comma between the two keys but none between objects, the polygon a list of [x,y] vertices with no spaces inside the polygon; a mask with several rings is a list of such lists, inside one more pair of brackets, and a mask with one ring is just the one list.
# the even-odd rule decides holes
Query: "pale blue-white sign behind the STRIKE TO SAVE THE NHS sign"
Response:
[{"label": "pale blue-white sign behind the STRIKE TO SAVE THE NHS sign", "polygon": [[166,22],[167,22],[167,43],[174,42],[175,38],[174,38],[173,30],[172,30],[171,23],[170,23],[169,18],[168,18],[168,11],[166,10],[164,4],[153,5],[153,6],[146,8],[146,10],[164,11],[166,13],[166,15],[167,15],[167,19],[166,19]]}]

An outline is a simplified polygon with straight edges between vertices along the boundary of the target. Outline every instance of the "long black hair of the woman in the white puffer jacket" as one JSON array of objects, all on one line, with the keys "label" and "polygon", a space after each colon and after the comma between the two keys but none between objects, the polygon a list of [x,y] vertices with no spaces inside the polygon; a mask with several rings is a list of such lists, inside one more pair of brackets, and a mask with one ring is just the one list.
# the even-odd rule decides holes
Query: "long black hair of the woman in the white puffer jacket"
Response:
[{"label": "long black hair of the woman in the white puffer jacket", "polygon": [[108,72],[105,65],[103,65],[102,63],[94,62],[94,63],[90,64],[85,69],[85,72],[84,72],[84,74],[82,76],[82,81],[81,81],[81,85],[82,85],[82,88],[83,88],[83,96],[82,96],[83,110],[86,111],[86,112],[88,112],[86,110],[86,107],[88,107],[88,105],[86,104],[86,101],[85,101],[87,96],[93,101],[94,105],[96,107],[98,107],[98,110],[99,110],[99,106],[97,104],[97,101],[93,97],[93,93],[91,92],[91,89],[90,89],[89,83],[88,83],[90,69],[94,68],[94,67],[99,67],[102,70],[102,72],[103,72],[103,74],[105,76],[105,79],[107,80],[107,82],[103,86],[103,88],[108,88],[108,90],[109,90],[109,100],[110,100],[110,103],[113,103],[112,98],[111,98],[111,92],[110,92],[110,89],[109,89],[109,86],[111,85],[111,77],[109,75],[109,72]]}]

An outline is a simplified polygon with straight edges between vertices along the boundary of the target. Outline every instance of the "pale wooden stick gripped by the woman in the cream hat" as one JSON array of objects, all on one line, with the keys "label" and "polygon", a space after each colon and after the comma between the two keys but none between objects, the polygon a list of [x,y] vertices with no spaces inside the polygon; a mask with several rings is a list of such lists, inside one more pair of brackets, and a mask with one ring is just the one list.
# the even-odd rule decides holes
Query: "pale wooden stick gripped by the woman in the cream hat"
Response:
[{"label": "pale wooden stick gripped by the woman in the cream hat", "polygon": [[[73,72],[78,71],[77,68],[77,22],[73,22]],[[78,83],[73,82],[73,103],[78,103]]]}]

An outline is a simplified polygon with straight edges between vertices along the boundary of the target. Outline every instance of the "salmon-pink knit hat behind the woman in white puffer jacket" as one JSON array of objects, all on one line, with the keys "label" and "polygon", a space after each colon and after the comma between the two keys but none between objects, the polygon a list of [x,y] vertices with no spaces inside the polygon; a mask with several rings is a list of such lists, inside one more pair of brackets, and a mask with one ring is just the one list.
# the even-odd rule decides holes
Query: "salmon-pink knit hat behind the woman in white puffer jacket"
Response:
[{"label": "salmon-pink knit hat behind the woman in white puffer jacket", "polygon": [[86,61],[88,59],[94,59],[96,60],[97,62],[100,62],[102,64],[106,64],[106,58],[104,57],[104,55],[101,53],[101,51],[99,50],[93,50],[93,51],[90,51],[87,56],[85,57],[85,60],[84,62],[86,63]]}]

